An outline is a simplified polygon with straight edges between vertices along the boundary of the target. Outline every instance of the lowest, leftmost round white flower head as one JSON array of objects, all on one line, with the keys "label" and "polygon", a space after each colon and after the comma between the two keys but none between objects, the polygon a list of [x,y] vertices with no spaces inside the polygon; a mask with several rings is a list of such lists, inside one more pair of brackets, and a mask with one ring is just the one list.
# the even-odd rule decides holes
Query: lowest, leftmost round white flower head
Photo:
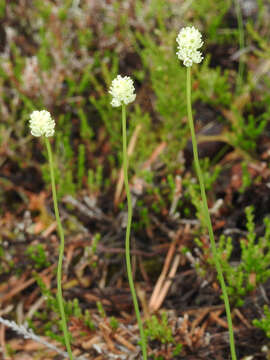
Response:
[{"label": "lowest, leftmost round white flower head", "polygon": [[46,110],[33,111],[30,115],[30,129],[33,136],[53,136],[55,121]]}]

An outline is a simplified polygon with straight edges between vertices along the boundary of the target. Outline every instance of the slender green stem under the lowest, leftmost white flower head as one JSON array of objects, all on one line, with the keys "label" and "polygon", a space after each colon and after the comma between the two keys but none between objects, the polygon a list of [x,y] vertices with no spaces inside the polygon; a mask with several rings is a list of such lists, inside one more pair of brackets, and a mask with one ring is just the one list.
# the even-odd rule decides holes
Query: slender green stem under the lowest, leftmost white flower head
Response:
[{"label": "slender green stem under the lowest, leftmost white flower head", "polygon": [[60,216],[59,216],[58,204],[57,204],[57,195],[56,195],[56,187],[55,187],[52,150],[51,150],[50,142],[49,142],[48,138],[46,138],[46,137],[45,137],[45,144],[46,144],[46,147],[47,147],[48,158],[49,158],[54,212],[55,212],[55,217],[56,217],[56,221],[57,221],[58,234],[59,234],[59,237],[60,237],[59,258],[58,258],[58,266],[57,266],[57,300],[58,300],[58,306],[59,306],[60,314],[61,314],[62,330],[63,330],[63,333],[64,333],[64,340],[65,340],[67,352],[68,352],[68,355],[69,355],[69,359],[73,360],[70,341],[69,341],[69,333],[68,333],[68,329],[67,329],[67,321],[66,321],[66,316],[65,316],[64,301],[63,301],[63,295],[62,295],[62,286],[61,286],[62,263],[63,263],[64,246],[65,246],[64,231],[63,231],[63,228],[62,228],[62,224],[61,224],[61,220],[60,220]]}]

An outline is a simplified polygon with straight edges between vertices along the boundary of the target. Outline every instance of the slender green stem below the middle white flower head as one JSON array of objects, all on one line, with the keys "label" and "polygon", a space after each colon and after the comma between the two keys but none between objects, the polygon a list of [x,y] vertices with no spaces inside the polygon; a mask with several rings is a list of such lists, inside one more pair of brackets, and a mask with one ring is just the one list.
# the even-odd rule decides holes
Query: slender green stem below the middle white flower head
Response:
[{"label": "slender green stem below the middle white flower head", "polygon": [[146,338],[143,330],[143,324],[141,320],[138,300],[136,296],[136,291],[132,278],[131,271],[131,262],[130,262],[130,229],[131,229],[131,220],[132,220],[132,203],[130,190],[128,185],[128,158],[127,158],[127,130],[126,130],[126,106],[122,105],[122,135],[123,135],[123,167],[124,167],[124,181],[125,181],[125,189],[127,195],[127,203],[128,203],[128,221],[127,221],[127,229],[126,229],[126,264],[127,264],[127,275],[128,282],[131,291],[131,296],[133,300],[133,305],[137,317],[137,322],[139,325],[140,336],[141,336],[141,348],[143,353],[143,360],[147,360],[147,350],[146,350]]}]

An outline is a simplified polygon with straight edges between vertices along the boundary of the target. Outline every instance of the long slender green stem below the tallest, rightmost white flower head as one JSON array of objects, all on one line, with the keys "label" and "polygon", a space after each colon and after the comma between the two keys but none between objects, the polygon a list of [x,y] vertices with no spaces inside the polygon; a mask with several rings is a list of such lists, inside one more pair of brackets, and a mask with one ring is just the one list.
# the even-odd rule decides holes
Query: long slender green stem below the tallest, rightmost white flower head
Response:
[{"label": "long slender green stem below the tallest, rightmost white flower head", "polygon": [[228,321],[228,328],[229,328],[231,356],[232,356],[232,360],[236,360],[237,358],[236,358],[235,345],[234,345],[234,335],[233,335],[230,303],[229,303],[229,298],[228,298],[228,294],[227,294],[224,277],[222,274],[221,265],[220,265],[218,255],[217,255],[217,248],[216,248],[216,243],[215,243],[215,239],[214,239],[214,232],[213,232],[213,227],[212,227],[211,218],[210,218],[208,205],[207,205],[207,198],[206,198],[206,193],[205,193],[203,175],[202,175],[202,171],[201,171],[201,167],[200,167],[200,163],[199,163],[197,141],[196,141],[196,135],[195,135],[194,123],[193,123],[193,117],[192,117],[192,108],[191,108],[191,71],[190,71],[190,67],[187,67],[187,112],[188,112],[188,123],[189,123],[189,127],[190,127],[190,132],[191,132],[194,162],[195,162],[196,172],[197,172],[197,176],[198,176],[199,183],[200,183],[200,189],[201,189],[203,211],[204,211],[204,216],[205,216],[205,220],[206,220],[207,228],[208,228],[208,232],[209,232],[209,238],[210,238],[210,243],[211,243],[215,266],[216,266],[217,273],[218,273],[218,279],[219,279],[221,289],[223,292],[223,299],[224,299],[225,310],[226,310],[227,321]]}]

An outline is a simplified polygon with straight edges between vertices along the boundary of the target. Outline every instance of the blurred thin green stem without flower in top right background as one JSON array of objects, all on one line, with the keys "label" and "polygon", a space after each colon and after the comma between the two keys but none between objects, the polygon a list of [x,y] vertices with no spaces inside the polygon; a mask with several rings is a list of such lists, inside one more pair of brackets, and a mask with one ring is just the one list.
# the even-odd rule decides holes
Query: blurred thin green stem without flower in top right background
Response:
[{"label": "blurred thin green stem without flower in top right background", "polygon": [[237,16],[238,34],[239,34],[238,41],[239,41],[239,51],[240,51],[237,83],[236,83],[236,90],[239,93],[241,90],[243,74],[244,74],[243,49],[244,49],[244,45],[245,45],[243,16],[242,16],[242,11],[241,11],[239,0],[235,0],[235,11],[236,11],[236,16]]}]

